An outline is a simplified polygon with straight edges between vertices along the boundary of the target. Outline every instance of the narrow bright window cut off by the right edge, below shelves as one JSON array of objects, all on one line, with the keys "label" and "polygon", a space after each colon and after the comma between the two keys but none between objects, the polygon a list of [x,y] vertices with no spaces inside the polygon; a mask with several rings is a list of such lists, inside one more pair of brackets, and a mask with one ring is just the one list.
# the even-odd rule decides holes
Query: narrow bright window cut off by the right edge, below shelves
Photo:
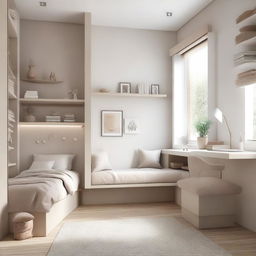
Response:
[{"label": "narrow bright window cut off by the right edge, below shelves", "polygon": [[256,84],[245,88],[245,139],[256,141]]}]

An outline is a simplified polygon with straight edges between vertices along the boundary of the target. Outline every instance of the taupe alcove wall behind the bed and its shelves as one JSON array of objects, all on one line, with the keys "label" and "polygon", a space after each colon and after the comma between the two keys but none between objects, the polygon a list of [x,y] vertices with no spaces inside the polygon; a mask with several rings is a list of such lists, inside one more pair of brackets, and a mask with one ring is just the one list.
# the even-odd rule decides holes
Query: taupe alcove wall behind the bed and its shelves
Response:
[{"label": "taupe alcove wall behind the bed and its shelves", "polygon": [[[84,26],[22,20],[21,22],[21,77],[26,77],[28,64],[36,65],[38,77],[47,78],[51,71],[63,83],[38,85],[22,81],[20,96],[25,90],[38,90],[40,98],[69,98],[68,92],[78,88],[84,98]],[[75,113],[77,121],[84,119],[82,107],[32,106],[37,121],[46,114]],[[25,108],[22,109],[23,121]],[[84,131],[79,127],[20,127],[20,166],[29,167],[33,153],[74,153],[73,169],[84,175]],[[83,178],[81,179],[83,180]]]}]

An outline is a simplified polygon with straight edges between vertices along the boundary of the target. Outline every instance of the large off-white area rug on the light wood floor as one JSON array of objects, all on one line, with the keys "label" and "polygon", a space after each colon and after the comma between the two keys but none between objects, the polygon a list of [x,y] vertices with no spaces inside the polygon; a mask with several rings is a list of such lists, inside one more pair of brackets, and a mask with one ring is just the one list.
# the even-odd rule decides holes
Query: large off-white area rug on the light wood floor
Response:
[{"label": "large off-white area rug on the light wood floor", "polygon": [[67,222],[48,256],[231,256],[176,218]]}]

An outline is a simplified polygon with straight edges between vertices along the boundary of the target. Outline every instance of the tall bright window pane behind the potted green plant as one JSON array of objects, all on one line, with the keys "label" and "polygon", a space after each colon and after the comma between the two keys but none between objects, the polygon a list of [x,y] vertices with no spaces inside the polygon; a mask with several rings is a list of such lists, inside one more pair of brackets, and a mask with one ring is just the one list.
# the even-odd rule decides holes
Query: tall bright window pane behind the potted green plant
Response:
[{"label": "tall bright window pane behind the potted green plant", "polygon": [[184,53],[187,88],[188,141],[197,137],[195,123],[208,118],[208,43],[204,41]]}]

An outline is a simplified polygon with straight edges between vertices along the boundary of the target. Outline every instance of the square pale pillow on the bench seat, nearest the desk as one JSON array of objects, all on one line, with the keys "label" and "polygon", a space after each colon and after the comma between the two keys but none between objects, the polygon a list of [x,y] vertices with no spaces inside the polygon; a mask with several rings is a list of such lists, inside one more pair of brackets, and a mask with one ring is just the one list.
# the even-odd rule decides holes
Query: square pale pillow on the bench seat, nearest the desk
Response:
[{"label": "square pale pillow on the bench seat, nearest the desk", "polygon": [[138,150],[138,168],[162,168],[160,165],[161,150]]}]

